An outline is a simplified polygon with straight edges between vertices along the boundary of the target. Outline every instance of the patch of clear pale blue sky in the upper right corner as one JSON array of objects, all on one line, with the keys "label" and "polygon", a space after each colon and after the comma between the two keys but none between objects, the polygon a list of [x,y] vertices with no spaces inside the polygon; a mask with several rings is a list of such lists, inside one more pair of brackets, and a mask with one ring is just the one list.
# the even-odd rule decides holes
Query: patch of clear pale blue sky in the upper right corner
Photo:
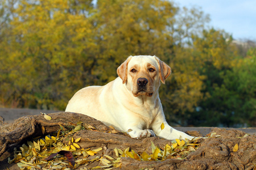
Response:
[{"label": "patch of clear pale blue sky in the upper right corner", "polygon": [[176,0],[179,7],[197,6],[210,15],[210,26],[224,29],[234,39],[256,41],[256,0]]}]

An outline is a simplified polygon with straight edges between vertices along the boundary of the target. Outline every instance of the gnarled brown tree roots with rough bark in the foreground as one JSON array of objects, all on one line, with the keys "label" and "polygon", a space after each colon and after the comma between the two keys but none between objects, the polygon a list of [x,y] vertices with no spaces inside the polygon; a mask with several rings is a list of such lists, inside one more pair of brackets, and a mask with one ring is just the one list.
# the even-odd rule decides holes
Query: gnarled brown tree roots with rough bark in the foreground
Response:
[{"label": "gnarled brown tree roots with rough bark in the foreground", "polygon": [[[13,148],[32,137],[51,134],[60,129],[60,125],[68,127],[78,121],[92,125],[97,131],[80,130],[74,138],[81,137],[80,146],[104,147],[104,154],[113,156],[115,147],[121,150],[130,147],[137,153],[151,152],[151,141],[162,150],[171,141],[158,137],[133,139],[123,133],[108,133],[113,129],[105,126],[92,117],[78,113],[58,112],[48,114],[52,120],[46,120],[43,115],[24,116],[12,124],[3,124],[0,117],[0,167],[19,169],[15,164],[6,164],[7,158],[13,154]],[[213,128],[212,132],[221,135],[220,138],[201,139],[201,147],[191,152],[187,158],[167,159],[162,162],[145,162],[131,158],[121,158],[122,169],[256,169],[256,137],[243,137],[245,132],[240,130],[225,130]],[[188,134],[200,136],[197,131],[187,131]],[[239,149],[233,152],[234,145]],[[1,169],[0,168],[0,169]]]}]

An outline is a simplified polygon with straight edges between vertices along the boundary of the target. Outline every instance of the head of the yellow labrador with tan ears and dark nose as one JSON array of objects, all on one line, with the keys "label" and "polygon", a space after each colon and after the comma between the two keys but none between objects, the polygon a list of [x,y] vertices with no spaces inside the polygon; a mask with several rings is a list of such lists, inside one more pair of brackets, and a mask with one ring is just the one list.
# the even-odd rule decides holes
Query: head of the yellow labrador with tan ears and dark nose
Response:
[{"label": "head of the yellow labrador with tan ears and dark nose", "polygon": [[151,97],[171,74],[171,67],[155,56],[130,56],[117,69],[118,76],[135,97]]}]

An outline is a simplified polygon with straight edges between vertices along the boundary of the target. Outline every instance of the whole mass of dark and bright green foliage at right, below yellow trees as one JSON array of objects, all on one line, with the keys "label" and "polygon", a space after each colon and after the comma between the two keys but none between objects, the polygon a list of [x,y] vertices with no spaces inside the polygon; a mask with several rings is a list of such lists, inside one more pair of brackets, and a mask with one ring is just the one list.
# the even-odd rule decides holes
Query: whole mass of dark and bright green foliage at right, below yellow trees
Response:
[{"label": "whole mass of dark and bright green foliage at right, below yellow trees", "polygon": [[199,111],[191,115],[189,124],[198,126],[256,126],[256,49],[250,49],[245,58],[233,59],[229,69],[209,71]]}]

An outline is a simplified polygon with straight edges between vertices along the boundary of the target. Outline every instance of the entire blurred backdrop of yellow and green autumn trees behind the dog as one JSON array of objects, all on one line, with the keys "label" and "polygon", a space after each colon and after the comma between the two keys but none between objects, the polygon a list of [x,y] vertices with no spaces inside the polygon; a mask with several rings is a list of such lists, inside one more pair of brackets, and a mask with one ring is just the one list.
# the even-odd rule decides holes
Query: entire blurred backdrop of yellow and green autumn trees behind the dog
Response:
[{"label": "entire blurred backdrop of yellow and green autumn trees behind the dog", "polygon": [[160,0],[3,0],[0,107],[64,110],[130,55],[155,55],[172,68],[159,92],[171,125],[256,126],[255,42],[209,20]]}]

